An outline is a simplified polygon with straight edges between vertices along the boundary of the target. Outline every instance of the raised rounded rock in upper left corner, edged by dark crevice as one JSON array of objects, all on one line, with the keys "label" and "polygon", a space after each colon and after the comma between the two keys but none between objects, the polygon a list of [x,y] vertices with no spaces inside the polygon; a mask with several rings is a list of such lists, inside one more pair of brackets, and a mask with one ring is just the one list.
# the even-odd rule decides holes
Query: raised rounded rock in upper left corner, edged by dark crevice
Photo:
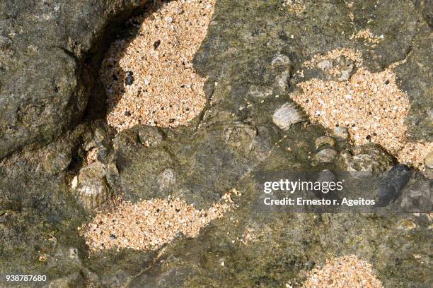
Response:
[{"label": "raised rounded rock in upper left corner, edged by dark crevice", "polygon": [[78,123],[95,81],[86,56],[144,2],[1,1],[0,158]]}]

